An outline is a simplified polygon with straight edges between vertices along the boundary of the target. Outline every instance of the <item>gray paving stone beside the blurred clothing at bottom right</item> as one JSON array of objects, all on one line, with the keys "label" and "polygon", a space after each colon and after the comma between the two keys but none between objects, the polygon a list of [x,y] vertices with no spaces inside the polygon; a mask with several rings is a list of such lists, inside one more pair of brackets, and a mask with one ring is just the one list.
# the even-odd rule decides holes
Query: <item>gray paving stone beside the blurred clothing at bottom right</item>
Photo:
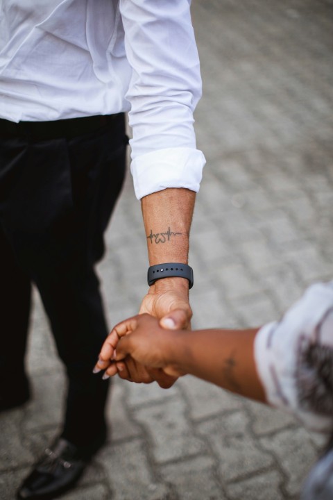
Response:
[{"label": "gray paving stone beside the blurred clothing at bottom right", "polygon": [[278,458],[280,467],[287,476],[287,492],[290,495],[298,494],[318,456],[307,432],[302,428],[281,431],[274,436],[262,437],[260,442],[264,449]]}]

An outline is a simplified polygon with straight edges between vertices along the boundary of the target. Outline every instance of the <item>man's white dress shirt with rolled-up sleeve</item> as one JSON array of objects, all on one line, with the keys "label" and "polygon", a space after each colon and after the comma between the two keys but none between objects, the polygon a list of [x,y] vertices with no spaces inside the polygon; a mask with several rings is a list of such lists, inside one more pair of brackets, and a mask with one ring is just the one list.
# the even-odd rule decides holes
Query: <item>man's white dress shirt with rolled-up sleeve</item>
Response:
[{"label": "man's white dress shirt with rolled-up sleeve", "polygon": [[200,99],[190,0],[0,0],[0,117],[49,121],[128,111],[140,199],[198,191]]}]

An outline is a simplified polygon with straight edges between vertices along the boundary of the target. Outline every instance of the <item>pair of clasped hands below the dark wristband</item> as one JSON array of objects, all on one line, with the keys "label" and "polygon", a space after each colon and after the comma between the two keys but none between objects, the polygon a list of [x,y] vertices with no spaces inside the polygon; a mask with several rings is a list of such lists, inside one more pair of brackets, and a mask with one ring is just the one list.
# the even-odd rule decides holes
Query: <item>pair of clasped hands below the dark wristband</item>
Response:
[{"label": "pair of clasped hands below the dark wristband", "polygon": [[103,378],[118,374],[136,383],[156,381],[164,389],[171,387],[181,375],[168,363],[172,338],[176,330],[189,329],[191,315],[187,294],[174,290],[156,294],[151,287],[139,315],[112,328],[93,372],[103,370]]}]

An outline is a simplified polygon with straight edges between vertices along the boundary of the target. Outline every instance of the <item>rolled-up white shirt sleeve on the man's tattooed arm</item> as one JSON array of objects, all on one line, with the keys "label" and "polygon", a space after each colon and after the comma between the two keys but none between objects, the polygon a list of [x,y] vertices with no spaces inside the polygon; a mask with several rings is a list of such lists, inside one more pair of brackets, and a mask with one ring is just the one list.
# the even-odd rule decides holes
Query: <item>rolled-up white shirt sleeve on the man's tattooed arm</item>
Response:
[{"label": "rolled-up white shirt sleeve on the man's tattooed arm", "polygon": [[198,192],[205,158],[196,149],[200,63],[189,0],[121,0],[132,77],[131,172],[138,199],[165,188]]}]

